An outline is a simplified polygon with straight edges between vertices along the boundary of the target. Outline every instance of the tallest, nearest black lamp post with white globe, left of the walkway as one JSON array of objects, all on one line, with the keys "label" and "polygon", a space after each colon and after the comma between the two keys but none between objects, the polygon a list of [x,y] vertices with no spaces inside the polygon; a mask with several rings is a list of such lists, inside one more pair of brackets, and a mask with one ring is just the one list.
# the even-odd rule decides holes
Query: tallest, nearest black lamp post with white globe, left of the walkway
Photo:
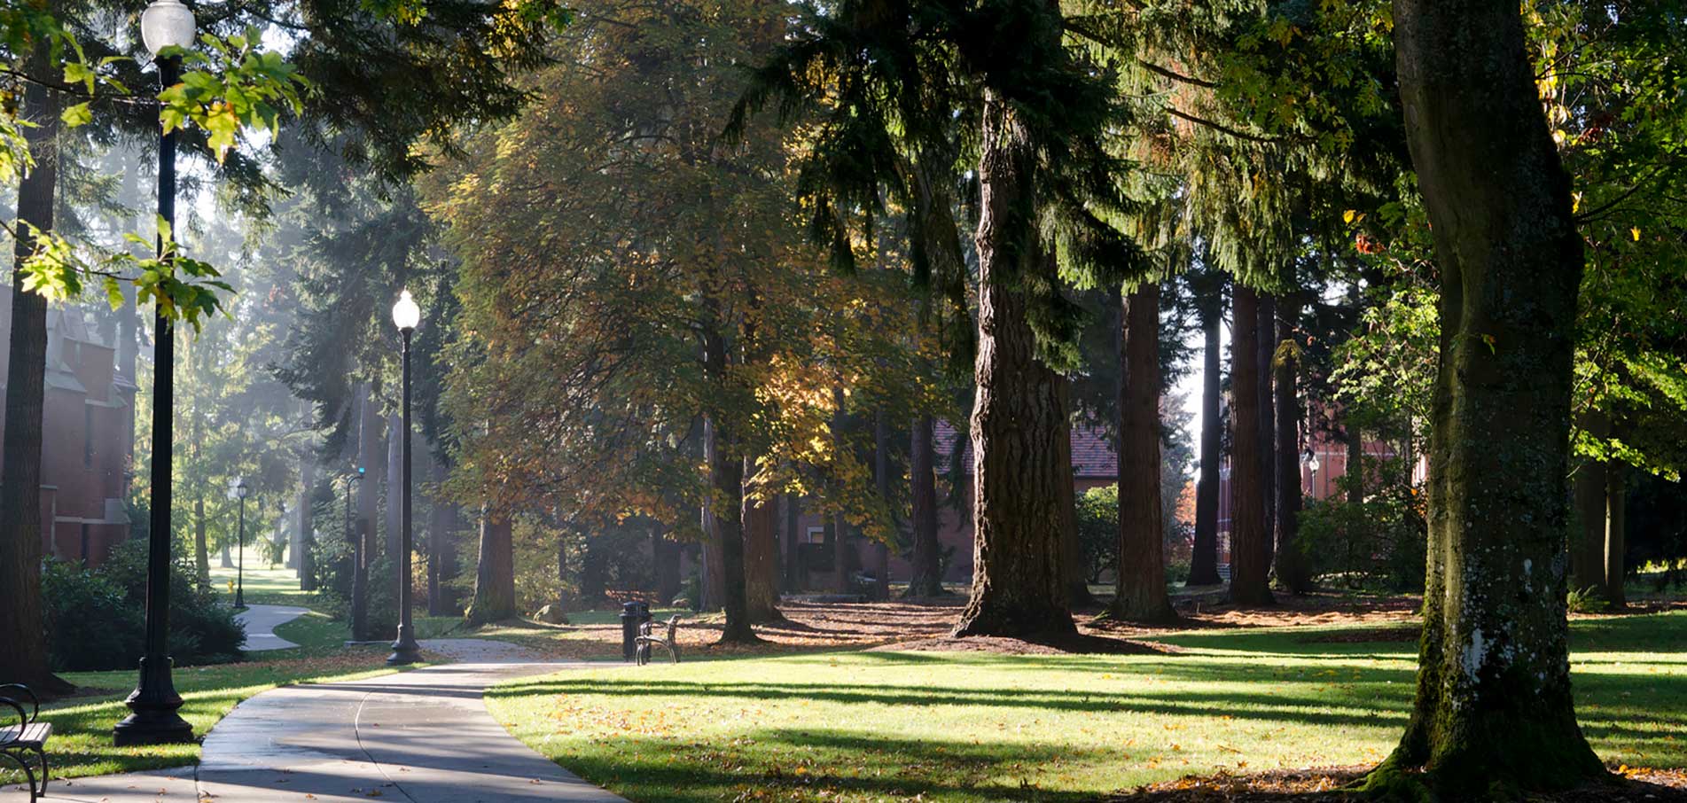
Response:
[{"label": "tallest, nearest black lamp post with white globe, left of the walkway", "polygon": [[[159,56],[165,47],[194,44],[194,12],[179,0],[154,0],[140,15],[140,39],[147,51]],[[159,88],[175,84],[181,64],[174,57],[157,59]],[[162,125],[160,125],[162,132]],[[159,137],[159,218],[175,223],[175,135]],[[165,256],[164,236],[159,236],[159,256]],[[175,366],[175,339],[170,317],[164,307],[155,314],[152,380],[152,531],[147,542],[147,641],[140,656],[140,682],[128,698],[130,715],[111,727],[111,741],[118,747],[130,744],[187,742],[194,737],[177,709],[182,695],[175,693],[170,678],[170,447],[174,430],[170,413],[175,405],[172,369]]]}]

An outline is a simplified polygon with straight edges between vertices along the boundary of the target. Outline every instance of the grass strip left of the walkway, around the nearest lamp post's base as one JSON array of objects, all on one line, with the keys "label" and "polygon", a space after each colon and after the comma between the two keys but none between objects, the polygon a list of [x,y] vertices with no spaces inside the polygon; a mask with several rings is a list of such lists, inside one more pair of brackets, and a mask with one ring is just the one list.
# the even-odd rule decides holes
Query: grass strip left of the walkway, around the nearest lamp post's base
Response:
[{"label": "grass strip left of the walkway, around the nearest lamp post's base", "polygon": [[[300,646],[251,653],[250,658],[256,660],[246,663],[175,668],[175,690],[184,700],[181,714],[194,725],[194,734],[204,736],[236,703],[275,687],[393,671],[383,663],[385,648],[342,646],[344,628],[321,614],[282,624],[275,633]],[[54,778],[132,773],[192,764],[199,759],[199,744],[111,746],[111,725],[128,714],[123,697],[135,687],[133,670],[74,671],[62,676],[81,687],[83,695],[49,703],[40,712],[44,720],[52,722],[47,752]],[[12,774],[0,771],[0,783],[13,781],[17,779]]]}]

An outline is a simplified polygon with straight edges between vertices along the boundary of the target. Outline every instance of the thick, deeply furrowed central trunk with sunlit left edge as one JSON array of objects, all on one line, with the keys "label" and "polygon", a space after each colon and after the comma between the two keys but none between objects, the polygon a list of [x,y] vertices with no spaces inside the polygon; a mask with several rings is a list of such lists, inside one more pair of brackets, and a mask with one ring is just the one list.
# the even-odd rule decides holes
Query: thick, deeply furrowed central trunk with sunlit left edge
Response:
[{"label": "thick, deeply furrowed central trunk with sunlit left edge", "polygon": [[1036,143],[994,91],[982,133],[973,577],[955,636],[1059,638],[1076,633],[1059,540],[1071,464],[1058,459],[1059,376],[1038,359],[1027,321],[1027,287],[1056,282],[1036,246]]}]

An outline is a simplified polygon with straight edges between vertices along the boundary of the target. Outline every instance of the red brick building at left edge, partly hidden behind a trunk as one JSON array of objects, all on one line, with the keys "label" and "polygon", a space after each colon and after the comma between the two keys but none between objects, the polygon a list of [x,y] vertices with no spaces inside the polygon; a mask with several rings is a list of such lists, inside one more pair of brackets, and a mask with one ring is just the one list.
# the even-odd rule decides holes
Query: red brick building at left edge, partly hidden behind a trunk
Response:
[{"label": "red brick building at left edge, partly hidden behind a trunk", "polygon": [[[0,287],[0,386],[10,332],[12,288]],[[116,349],[93,332],[81,307],[47,310],[44,396],[42,552],[100,565],[111,547],[128,538],[123,489],[135,444],[135,383],[120,376]],[[0,439],[3,427],[0,417]]]}]

